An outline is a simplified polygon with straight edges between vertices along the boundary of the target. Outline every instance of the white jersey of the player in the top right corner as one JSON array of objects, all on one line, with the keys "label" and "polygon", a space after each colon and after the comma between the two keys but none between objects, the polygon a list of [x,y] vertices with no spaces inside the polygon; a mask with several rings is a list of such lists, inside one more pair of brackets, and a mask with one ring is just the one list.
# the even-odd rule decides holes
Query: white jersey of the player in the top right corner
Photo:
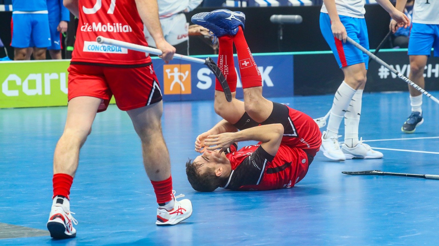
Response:
[{"label": "white jersey of the player in the top right corner", "polygon": [[439,24],[439,0],[416,0],[413,6],[413,22]]}]

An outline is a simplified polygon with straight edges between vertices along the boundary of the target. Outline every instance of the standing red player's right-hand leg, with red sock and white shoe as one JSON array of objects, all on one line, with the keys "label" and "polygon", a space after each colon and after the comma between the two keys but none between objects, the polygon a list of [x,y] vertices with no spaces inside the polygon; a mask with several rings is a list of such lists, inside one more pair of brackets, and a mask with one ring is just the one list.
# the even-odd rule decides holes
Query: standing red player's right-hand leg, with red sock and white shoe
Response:
[{"label": "standing red player's right-hand leg, with red sock and white shoe", "polygon": [[[144,168],[157,198],[157,225],[175,225],[189,218],[192,204],[180,201],[172,190],[169,152],[162,135],[163,101],[127,111],[142,142]],[[178,197],[178,196],[177,196]]]}]

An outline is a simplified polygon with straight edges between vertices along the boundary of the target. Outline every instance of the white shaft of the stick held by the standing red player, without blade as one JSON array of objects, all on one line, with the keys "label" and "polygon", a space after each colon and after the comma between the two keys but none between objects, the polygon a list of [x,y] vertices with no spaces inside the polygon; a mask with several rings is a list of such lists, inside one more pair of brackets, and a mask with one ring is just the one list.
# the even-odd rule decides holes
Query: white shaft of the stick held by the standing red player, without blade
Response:
[{"label": "white shaft of the stick held by the standing red player, without blade", "polygon": [[[108,38],[104,38],[102,36],[97,36],[96,42],[98,42],[100,44],[109,44],[109,45],[114,45],[114,46],[118,46],[118,47],[122,47],[122,48],[126,48],[126,49],[132,49],[132,50],[136,50],[136,51],[140,51],[140,52],[146,52],[146,53],[150,53],[150,54],[154,54],[154,55],[158,55],[158,56],[160,56],[162,54],[162,51],[160,49],[155,49],[155,48],[142,46],[142,45],[138,45],[138,44],[133,44],[133,43],[129,43],[129,42],[123,42],[123,41],[116,40],[116,39],[108,39]],[[195,63],[205,64],[205,60],[200,59],[200,58],[191,57],[191,56],[174,54],[174,58],[181,59],[181,60],[187,60],[187,61],[191,61],[191,62],[195,62]]]}]

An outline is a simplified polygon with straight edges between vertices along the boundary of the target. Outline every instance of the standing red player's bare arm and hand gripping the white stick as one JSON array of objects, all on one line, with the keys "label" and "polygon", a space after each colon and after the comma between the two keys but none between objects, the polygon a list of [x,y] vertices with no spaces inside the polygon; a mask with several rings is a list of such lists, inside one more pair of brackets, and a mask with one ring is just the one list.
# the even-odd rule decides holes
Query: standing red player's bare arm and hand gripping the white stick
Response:
[{"label": "standing red player's bare arm and hand gripping the white stick", "polygon": [[158,19],[157,0],[135,1],[140,18],[148,29],[148,32],[151,34],[151,37],[154,39],[155,46],[163,52],[159,57],[162,58],[166,64],[169,63],[174,57],[175,48],[166,42],[165,37],[163,36],[162,25]]}]

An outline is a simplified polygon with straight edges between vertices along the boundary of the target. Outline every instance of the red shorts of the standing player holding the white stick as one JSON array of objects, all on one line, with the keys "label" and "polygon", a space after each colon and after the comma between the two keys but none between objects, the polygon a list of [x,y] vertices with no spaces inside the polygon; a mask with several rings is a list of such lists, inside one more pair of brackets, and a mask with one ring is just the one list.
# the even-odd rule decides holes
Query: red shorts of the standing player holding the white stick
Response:
[{"label": "red shorts of the standing player holding the white stick", "polygon": [[152,64],[131,68],[70,64],[68,72],[68,100],[78,96],[101,98],[97,112],[107,109],[113,95],[118,108],[124,111],[162,100]]}]

